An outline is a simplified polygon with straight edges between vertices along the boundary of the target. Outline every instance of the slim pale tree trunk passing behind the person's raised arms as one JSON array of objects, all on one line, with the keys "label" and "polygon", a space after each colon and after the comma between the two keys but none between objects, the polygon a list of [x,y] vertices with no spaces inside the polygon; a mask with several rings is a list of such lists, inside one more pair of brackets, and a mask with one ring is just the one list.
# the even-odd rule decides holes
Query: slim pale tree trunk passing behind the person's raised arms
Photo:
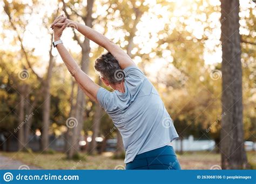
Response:
[{"label": "slim pale tree trunk passing behind the person's raised arms", "polygon": [[[86,6],[86,19],[85,19],[85,25],[88,27],[92,27],[92,6],[93,6],[94,0],[87,0],[87,6]],[[90,47],[90,40],[85,38],[84,42],[82,43],[82,60],[81,60],[81,69],[87,73],[88,67],[89,67],[89,53],[91,50]],[[83,129],[83,122],[84,122],[84,101],[85,101],[85,95],[82,91],[82,89],[77,89],[77,103],[76,103],[76,119],[78,122],[78,125],[73,128],[73,136],[72,136],[72,145],[70,148],[70,151],[68,153],[68,158],[72,158],[73,155],[76,154],[76,152],[79,151],[79,139],[80,139],[80,132]]]}]

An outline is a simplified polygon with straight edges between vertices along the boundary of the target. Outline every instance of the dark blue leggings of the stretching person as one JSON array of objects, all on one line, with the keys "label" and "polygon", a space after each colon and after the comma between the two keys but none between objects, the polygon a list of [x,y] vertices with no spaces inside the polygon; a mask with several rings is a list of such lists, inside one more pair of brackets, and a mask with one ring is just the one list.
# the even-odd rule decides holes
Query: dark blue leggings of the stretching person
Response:
[{"label": "dark blue leggings of the stretching person", "polygon": [[181,169],[172,146],[164,146],[142,154],[126,164],[126,169]]}]

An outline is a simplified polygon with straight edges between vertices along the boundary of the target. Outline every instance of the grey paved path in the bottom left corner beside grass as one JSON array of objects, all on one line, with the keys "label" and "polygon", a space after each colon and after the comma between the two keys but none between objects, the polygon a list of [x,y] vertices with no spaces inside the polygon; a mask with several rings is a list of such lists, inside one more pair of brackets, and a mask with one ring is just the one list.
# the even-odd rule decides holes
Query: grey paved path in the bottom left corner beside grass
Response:
[{"label": "grey paved path in the bottom left corner beside grass", "polygon": [[0,169],[40,169],[40,168],[26,165],[21,161],[14,160],[14,159],[0,155]]}]

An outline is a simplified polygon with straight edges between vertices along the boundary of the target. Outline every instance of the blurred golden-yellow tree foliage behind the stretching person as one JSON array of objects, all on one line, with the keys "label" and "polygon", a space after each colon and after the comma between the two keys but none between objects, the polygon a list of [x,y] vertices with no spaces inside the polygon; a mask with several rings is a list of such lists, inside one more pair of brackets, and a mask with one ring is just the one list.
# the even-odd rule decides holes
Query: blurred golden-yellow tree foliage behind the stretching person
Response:
[{"label": "blurred golden-yellow tree foliage behind the stretching person", "polygon": [[[5,3],[7,1],[4,1]],[[8,4],[7,4],[8,5]],[[3,30],[0,38],[7,40],[8,47],[0,49],[0,132],[12,132],[18,125],[18,86],[27,85],[30,93],[26,101],[30,104],[37,100],[33,116],[31,131],[42,129],[42,109],[44,99],[42,97],[42,82],[33,73],[26,62],[26,57],[32,63],[33,69],[38,69],[44,76],[48,60],[45,60],[45,53],[49,52],[50,32],[49,25],[53,19],[52,10],[48,10],[48,4],[33,1],[33,5],[24,4],[20,1],[12,1],[8,7],[12,19],[15,20],[15,27],[9,23],[6,13],[1,16]],[[83,22],[78,15],[86,16],[86,9],[83,1],[70,1],[70,17],[78,22]],[[7,7],[7,6],[5,6]],[[32,11],[32,7],[34,8]],[[56,4],[57,7],[57,4]],[[159,10],[154,9],[159,7]],[[97,11],[100,8],[100,11]],[[181,8],[183,11],[181,11]],[[5,8],[6,9],[6,8]],[[38,19],[38,25],[30,22],[39,11],[46,9],[45,15]],[[166,10],[166,11],[165,11]],[[56,11],[56,10],[54,10]],[[246,140],[255,140],[255,12],[252,2],[246,7],[241,6],[241,40],[242,40],[242,89],[244,104],[244,134]],[[181,136],[187,137],[194,135],[201,137],[203,134],[208,138],[219,139],[221,121],[214,122],[221,116],[221,79],[213,80],[210,77],[211,71],[221,68],[221,55],[215,58],[212,53],[219,53],[220,24],[220,4],[212,4],[212,1],[194,1],[192,4],[157,1],[99,1],[93,8],[93,27],[99,32],[104,33],[115,43],[127,50],[127,43],[132,40],[131,58],[138,63],[138,66],[152,81],[159,91],[167,111],[174,120],[178,132]],[[136,17],[134,17],[136,16]],[[214,22],[214,18],[217,21]],[[147,19],[145,19],[147,18]],[[150,23],[149,23],[150,22]],[[161,26],[149,26],[163,22]],[[193,23],[193,24],[192,24]],[[43,26],[42,26],[43,25]],[[32,28],[31,28],[32,27]],[[40,27],[40,30],[35,30]],[[136,29],[134,29],[134,27]],[[198,29],[200,28],[200,29]],[[28,38],[35,43],[25,43],[25,53],[22,52],[21,43],[17,37],[17,32],[21,38]],[[33,35],[30,32],[32,32]],[[48,40],[48,45],[37,47],[43,40]],[[82,55],[77,49],[77,41],[71,41],[72,31],[67,31],[64,35],[69,40],[67,47],[77,61]],[[83,37],[77,34],[80,40]],[[215,37],[214,37],[215,36]],[[212,38],[214,37],[214,38]],[[214,43],[211,47],[208,44]],[[35,47],[35,48],[34,48]],[[93,69],[93,61],[104,52],[104,49],[91,44],[90,62],[88,74],[96,81],[98,75]],[[74,49],[76,48],[76,49]],[[41,53],[42,51],[42,53]],[[55,51],[54,51],[55,52]],[[38,53],[40,53],[38,55]],[[210,56],[205,54],[210,53]],[[164,60],[164,61],[163,61]],[[214,62],[208,62],[214,60]],[[51,79],[51,130],[50,133],[57,135],[56,132],[65,126],[66,119],[70,116],[71,104],[71,76],[65,65],[58,57],[55,57],[56,65],[53,67]],[[159,67],[160,66],[160,67]],[[28,80],[19,80],[18,72],[27,68],[30,77]],[[151,69],[150,69],[151,68]],[[75,86],[75,92],[77,86]],[[110,89],[110,88],[109,88]],[[76,99],[76,96],[74,96]],[[74,101],[75,103],[75,101]],[[92,130],[93,118],[95,115],[95,105],[86,98],[84,107],[86,116],[84,117],[84,132]],[[114,137],[113,124],[107,114],[103,114],[100,119],[100,136]],[[212,126],[213,125],[213,126]],[[210,128],[209,132],[206,129]],[[48,154],[54,153],[50,150]],[[79,159],[77,154],[75,159]],[[123,158],[123,155],[121,156]]]}]

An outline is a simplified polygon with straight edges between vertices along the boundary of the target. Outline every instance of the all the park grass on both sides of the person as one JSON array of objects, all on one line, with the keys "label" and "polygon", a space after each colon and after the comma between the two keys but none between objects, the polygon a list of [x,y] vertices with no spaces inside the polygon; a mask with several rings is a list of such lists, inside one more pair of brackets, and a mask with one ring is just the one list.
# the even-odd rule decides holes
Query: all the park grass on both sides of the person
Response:
[{"label": "all the park grass on both sides of the person", "polygon": [[[55,154],[35,152],[0,152],[1,155],[12,160],[22,161],[26,165],[37,166],[42,169],[114,169],[118,165],[124,166],[123,159],[113,159],[110,152],[102,155],[86,155],[81,153],[80,160],[68,160],[66,155],[60,152]],[[214,165],[220,165],[220,154],[211,152],[186,152],[177,154],[182,169],[210,169]],[[252,169],[256,169],[255,152],[247,152],[247,158]]]}]

